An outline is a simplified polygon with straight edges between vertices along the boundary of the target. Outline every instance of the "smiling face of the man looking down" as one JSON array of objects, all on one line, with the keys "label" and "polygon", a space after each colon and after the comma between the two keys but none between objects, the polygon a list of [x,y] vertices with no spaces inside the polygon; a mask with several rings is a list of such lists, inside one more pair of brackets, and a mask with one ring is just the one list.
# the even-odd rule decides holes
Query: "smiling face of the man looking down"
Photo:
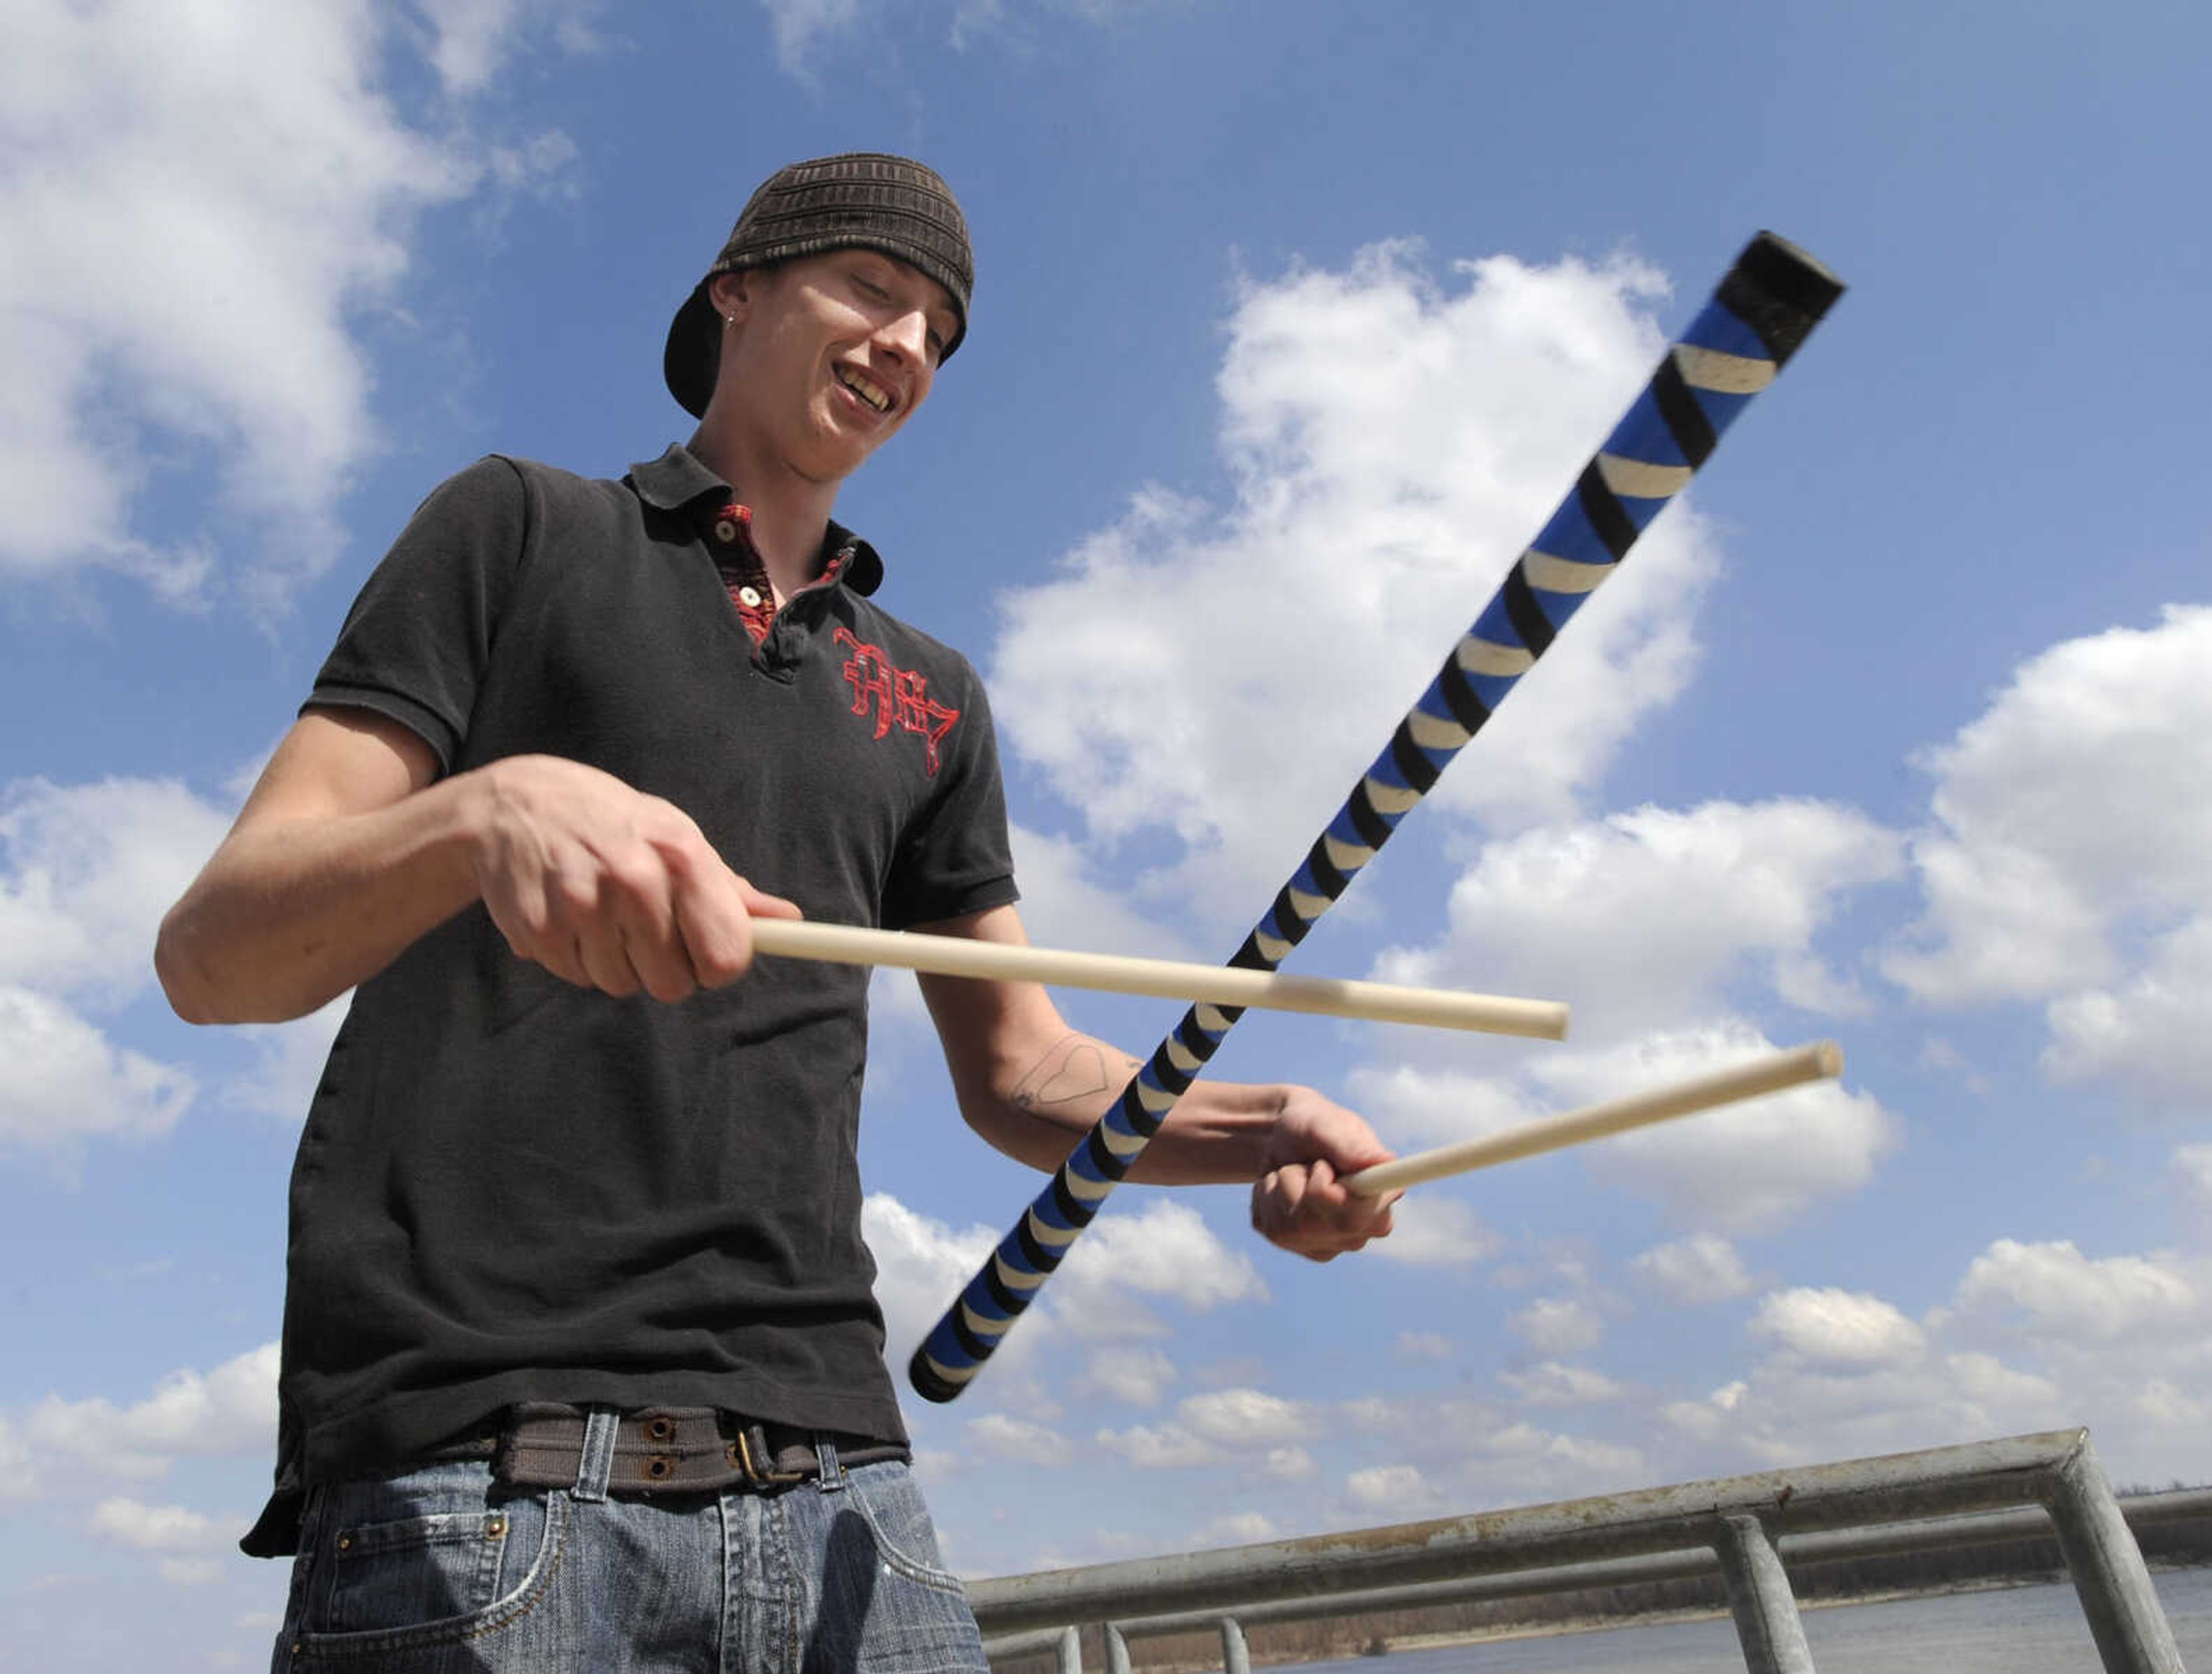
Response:
[{"label": "smiling face of the man looking down", "polygon": [[723,332],[710,418],[787,469],[841,482],[929,396],[960,316],[947,290],[880,250],[832,250],[712,287]]}]

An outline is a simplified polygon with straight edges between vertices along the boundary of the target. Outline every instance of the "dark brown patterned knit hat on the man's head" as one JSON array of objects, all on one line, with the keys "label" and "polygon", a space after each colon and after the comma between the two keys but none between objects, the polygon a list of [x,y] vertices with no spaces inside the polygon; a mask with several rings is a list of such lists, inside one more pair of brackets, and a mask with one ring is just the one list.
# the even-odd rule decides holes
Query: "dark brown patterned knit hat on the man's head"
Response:
[{"label": "dark brown patterned knit hat on the man's head", "polygon": [[960,318],[940,356],[951,360],[967,336],[969,292],[975,290],[967,217],[951,188],[933,168],[880,150],[816,157],[779,168],[761,184],[714,265],[677,310],[661,374],[684,411],[706,416],[721,367],[721,321],[706,294],[717,276],[854,245],[898,257],[951,292]]}]

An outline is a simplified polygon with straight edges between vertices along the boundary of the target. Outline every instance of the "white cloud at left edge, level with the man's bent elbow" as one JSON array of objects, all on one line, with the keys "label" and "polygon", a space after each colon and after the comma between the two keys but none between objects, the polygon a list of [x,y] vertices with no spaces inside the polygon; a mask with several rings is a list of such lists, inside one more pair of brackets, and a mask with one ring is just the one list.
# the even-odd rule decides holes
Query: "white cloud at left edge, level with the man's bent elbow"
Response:
[{"label": "white cloud at left edge, level with the man's bent elbow", "polygon": [[230,814],[173,778],[0,792],[0,982],[122,1002],[153,982],[153,938]]}]

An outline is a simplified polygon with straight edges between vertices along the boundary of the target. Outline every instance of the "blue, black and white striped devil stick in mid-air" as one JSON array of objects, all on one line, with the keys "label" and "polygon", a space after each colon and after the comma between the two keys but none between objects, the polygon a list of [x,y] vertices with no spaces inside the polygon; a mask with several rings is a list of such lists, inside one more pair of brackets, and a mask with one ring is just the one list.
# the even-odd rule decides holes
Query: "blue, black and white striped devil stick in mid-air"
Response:
[{"label": "blue, black and white striped devil stick in mid-air", "polygon": [[[1772,232],[1743,248],[1232,966],[1274,971],[1305,940],[1840,294],[1827,268]],[[1183,1013],[914,1351],[918,1393],[953,1400],[982,1369],[1241,1015],[1210,1004]]]}]

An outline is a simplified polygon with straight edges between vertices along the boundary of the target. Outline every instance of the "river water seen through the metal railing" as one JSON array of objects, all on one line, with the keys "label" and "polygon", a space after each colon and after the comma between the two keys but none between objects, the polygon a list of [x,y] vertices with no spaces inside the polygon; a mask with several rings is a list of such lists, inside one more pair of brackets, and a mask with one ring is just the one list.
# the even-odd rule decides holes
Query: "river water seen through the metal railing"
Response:
[{"label": "river water seen through the metal railing", "polygon": [[[2181,1661],[2212,1670],[2212,1568],[2152,1577]],[[2097,1674],[2097,1643],[2070,1583],[1949,1592],[1805,1612],[1820,1674]],[[1670,1621],[1312,1663],[1314,1674],[1728,1674],[1736,1625]]]}]

